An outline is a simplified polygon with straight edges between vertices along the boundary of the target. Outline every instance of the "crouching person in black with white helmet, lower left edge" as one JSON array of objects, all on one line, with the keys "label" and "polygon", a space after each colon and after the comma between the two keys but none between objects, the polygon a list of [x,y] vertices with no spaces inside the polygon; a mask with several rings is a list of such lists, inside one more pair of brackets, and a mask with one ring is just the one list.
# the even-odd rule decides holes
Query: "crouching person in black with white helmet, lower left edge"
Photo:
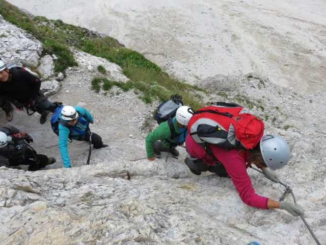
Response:
[{"label": "crouching person in black with white helmet, lower left edge", "polygon": [[0,127],[0,166],[16,168],[29,165],[29,171],[36,171],[56,162],[55,158],[37,154],[28,144],[33,138],[14,126]]}]

